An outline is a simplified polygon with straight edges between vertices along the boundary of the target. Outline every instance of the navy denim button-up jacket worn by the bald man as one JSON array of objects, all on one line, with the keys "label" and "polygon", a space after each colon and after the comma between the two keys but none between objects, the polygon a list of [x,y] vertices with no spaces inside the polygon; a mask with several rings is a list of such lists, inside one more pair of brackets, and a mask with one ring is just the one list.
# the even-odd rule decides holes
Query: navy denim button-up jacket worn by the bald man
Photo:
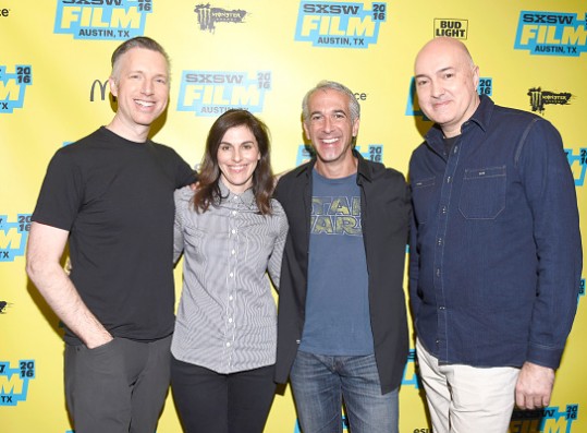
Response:
[{"label": "navy denim button-up jacket worn by the bald man", "polygon": [[441,363],[557,369],[582,245],[574,179],[545,119],[484,96],[450,154],[435,125],[409,163],[409,296]]}]

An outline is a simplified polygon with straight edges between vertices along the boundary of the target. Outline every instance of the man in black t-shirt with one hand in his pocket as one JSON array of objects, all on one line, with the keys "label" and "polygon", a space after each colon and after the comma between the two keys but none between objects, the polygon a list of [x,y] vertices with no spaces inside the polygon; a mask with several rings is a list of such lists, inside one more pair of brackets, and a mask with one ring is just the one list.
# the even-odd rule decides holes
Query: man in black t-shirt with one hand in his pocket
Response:
[{"label": "man in black t-shirt with one hand in his pocket", "polygon": [[[65,395],[78,433],[154,432],[169,386],[173,191],[194,171],[148,137],[169,59],[147,37],[112,55],[112,121],[59,149],[42,183],[26,270],[65,324]],[[68,275],[60,265],[69,242]]]}]

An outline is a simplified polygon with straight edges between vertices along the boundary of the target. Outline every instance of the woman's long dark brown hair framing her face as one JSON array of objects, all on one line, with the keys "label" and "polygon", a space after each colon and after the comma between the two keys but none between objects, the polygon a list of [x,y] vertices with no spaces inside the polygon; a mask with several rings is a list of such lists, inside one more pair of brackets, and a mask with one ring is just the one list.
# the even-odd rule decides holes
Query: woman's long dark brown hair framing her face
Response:
[{"label": "woman's long dark brown hair framing her face", "polygon": [[194,194],[194,208],[196,212],[206,212],[210,205],[217,203],[221,196],[219,181],[220,167],[218,165],[218,147],[228,130],[245,125],[250,130],[257,144],[261,158],[253,172],[253,193],[255,202],[262,215],[271,214],[271,194],[273,191],[273,172],[269,155],[270,140],[267,125],[247,110],[232,109],[220,116],[210,128],[206,140],[206,151],[201,161],[198,188]]}]

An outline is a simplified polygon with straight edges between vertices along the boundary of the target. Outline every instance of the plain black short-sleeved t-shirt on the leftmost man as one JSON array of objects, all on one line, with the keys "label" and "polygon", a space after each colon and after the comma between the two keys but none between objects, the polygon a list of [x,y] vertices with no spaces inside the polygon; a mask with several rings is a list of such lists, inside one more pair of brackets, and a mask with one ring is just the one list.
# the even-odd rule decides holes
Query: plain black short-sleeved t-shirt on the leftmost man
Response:
[{"label": "plain black short-sleeved t-shirt on the leftmost man", "polygon": [[51,159],[33,220],[70,231],[70,277],[113,336],[173,332],[173,191],[194,180],[172,148],[103,127]]}]

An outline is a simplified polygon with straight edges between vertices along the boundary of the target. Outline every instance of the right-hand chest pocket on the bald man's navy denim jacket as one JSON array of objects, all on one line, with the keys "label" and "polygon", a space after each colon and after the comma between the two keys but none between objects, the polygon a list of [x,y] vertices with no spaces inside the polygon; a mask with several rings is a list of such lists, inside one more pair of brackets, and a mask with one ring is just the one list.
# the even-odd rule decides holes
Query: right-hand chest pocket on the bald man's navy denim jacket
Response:
[{"label": "right-hand chest pocket on the bald man's navy denim jacket", "polygon": [[466,219],[494,219],[505,208],[505,166],[467,168],[458,211]]}]

